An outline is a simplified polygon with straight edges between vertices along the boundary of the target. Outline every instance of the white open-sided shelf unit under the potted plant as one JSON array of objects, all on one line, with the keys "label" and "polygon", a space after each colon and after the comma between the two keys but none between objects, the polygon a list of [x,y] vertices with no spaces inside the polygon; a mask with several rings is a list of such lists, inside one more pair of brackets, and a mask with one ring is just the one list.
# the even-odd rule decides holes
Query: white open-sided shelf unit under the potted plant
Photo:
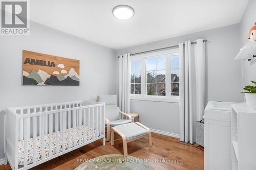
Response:
[{"label": "white open-sided shelf unit under the potted plant", "polygon": [[256,169],[256,110],[232,106],[231,146],[232,170]]}]

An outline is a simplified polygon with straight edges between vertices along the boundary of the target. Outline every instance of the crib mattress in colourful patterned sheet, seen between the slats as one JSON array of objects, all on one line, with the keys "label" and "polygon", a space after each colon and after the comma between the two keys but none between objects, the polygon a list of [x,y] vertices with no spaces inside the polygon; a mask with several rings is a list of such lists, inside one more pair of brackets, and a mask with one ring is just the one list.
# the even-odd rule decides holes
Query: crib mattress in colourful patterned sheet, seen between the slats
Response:
[{"label": "crib mattress in colourful patterned sheet, seen between the slats", "polygon": [[[86,129],[85,133],[83,133],[84,128]],[[89,128],[88,126],[79,126],[80,132],[81,132],[81,136],[79,139],[79,130],[78,127],[75,127],[75,134],[76,134],[76,138],[75,138],[75,143],[76,145],[79,144],[79,140],[80,143],[83,143],[84,140],[84,135],[86,135],[86,141],[91,140],[92,139],[92,132],[93,129],[90,128],[90,132],[89,132]],[[74,128],[70,128],[70,143],[69,143],[69,136],[68,136],[68,130],[65,130],[64,133],[64,148],[65,150],[67,150],[69,148],[69,144],[70,147],[74,147]],[[94,138],[99,137],[100,136],[100,132],[97,130],[94,130]],[[58,149],[59,152],[62,151],[62,131],[58,131]],[[33,138],[28,139],[28,164],[33,162]],[[45,157],[49,157],[49,134],[45,135],[45,149],[44,149],[44,155]],[[52,133],[52,155],[56,154],[56,133],[53,132]],[[41,136],[37,136],[36,137],[36,161],[41,160]],[[24,165],[24,140],[19,140],[18,142],[18,165]]]}]

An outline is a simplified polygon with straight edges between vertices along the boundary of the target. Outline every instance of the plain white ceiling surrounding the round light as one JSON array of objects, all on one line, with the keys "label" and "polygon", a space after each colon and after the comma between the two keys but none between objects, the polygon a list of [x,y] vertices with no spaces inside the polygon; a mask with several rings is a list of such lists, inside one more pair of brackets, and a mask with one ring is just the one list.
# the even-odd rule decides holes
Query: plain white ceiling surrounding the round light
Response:
[{"label": "plain white ceiling surrounding the round light", "polygon": [[[238,23],[248,0],[33,0],[30,18],[51,28],[121,49]],[[134,8],[129,20],[112,9]]]}]

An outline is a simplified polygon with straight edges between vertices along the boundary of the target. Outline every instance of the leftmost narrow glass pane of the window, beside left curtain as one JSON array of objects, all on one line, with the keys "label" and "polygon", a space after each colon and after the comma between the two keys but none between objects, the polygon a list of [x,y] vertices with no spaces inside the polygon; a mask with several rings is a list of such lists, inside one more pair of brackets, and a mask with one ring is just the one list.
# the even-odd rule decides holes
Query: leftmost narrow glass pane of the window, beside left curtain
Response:
[{"label": "leftmost narrow glass pane of the window, beside left curtain", "polygon": [[131,62],[131,94],[141,94],[141,61]]}]

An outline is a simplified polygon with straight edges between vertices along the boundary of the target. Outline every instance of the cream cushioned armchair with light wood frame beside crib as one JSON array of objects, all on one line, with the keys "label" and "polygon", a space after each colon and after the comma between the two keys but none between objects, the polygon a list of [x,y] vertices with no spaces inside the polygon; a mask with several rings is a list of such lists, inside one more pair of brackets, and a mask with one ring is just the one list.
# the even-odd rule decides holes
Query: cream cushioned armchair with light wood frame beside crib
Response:
[{"label": "cream cushioned armchair with light wood frame beside crib", "polygon": [[[133,122],[132,116],[117,107],[117,95],[98,95],[98,102],[105,103],[106,141],[110,140],[111,127]],[[129,119],[122,119],[128,117]]]}]

